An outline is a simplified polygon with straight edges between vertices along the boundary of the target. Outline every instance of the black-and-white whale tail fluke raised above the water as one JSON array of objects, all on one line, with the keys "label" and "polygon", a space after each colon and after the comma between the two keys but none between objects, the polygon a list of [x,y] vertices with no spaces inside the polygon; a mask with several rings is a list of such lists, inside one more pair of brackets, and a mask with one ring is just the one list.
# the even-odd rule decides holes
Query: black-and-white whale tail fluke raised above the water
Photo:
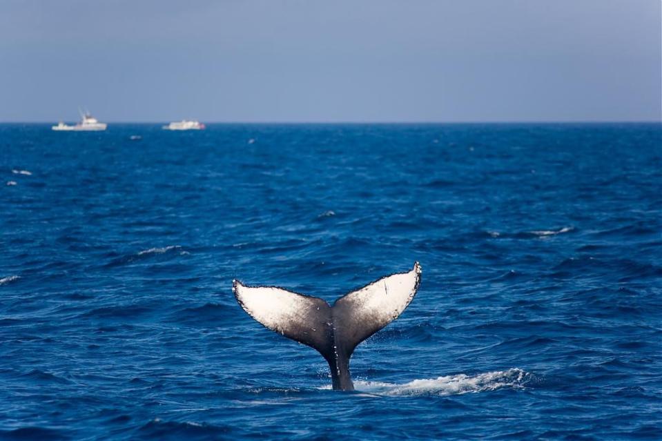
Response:
[{"label": "black-and-white whale tail fluke raised above the water", "polygon": [[382,277],[333,306],[318,297],[237,280],[232,291],[257,322],[319,351],[331,367],[333,389],[352,391],[349,359],[354,349],[405,311],[418,291],[421,272],[416,262],[411,271]]}]

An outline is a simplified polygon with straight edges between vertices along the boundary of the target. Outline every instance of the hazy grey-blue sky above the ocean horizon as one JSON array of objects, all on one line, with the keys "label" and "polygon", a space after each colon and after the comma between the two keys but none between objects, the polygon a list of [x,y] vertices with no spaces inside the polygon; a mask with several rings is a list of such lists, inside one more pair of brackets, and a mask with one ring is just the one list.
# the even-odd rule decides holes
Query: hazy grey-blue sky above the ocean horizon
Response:
[{"label": "hazy grey-blue sky above the ocean horizon", "polygon": [[660,121],[660,0],[0,0],[0,121]]}]

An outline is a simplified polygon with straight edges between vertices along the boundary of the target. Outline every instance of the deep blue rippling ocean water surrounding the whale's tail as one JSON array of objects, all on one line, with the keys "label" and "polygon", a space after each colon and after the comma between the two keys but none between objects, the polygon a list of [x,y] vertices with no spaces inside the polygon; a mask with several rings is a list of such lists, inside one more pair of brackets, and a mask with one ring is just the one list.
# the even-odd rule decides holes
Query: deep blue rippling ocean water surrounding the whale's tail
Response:
[{"label": "deep blue rippling ocean water surrounding the whale's tail", "polygon": [[[5,124],[0,207],[2,439],[662,436],[660,124]],[[354,393],[231,292],[416,260]]]}]

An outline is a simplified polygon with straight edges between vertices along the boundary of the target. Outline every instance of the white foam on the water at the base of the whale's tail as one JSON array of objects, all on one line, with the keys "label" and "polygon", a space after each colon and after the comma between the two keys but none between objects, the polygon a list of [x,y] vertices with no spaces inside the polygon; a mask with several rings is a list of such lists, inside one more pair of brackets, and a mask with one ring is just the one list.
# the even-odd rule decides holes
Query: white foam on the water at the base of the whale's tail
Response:
[{"label": "white foam on the water at the base of the whale's tail", "polygon": [[[478,375],[447,375],[445,377],[413,380],[408,383],[396,384],[387,382],[361,381],[354,382],[356,391],[374,395],[460,395],[463,393],[478,393],[496,389],[523,389],[531,374],[522,369],[513,368],[507,371],[479,373]],[[324,386],[322,389],[331,389]]]}]

